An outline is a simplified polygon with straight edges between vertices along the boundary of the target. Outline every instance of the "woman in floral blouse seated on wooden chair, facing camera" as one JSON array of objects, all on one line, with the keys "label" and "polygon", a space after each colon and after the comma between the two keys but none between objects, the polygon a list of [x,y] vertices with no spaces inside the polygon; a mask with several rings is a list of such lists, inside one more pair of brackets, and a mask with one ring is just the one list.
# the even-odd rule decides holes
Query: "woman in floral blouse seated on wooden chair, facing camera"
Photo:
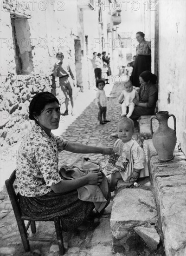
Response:
[{"label": "woman in floral blouse seated on wooden chair, facing camera", "polygon": [[[100,185],[102,172],[88,172],[73,180],[64,179],[58,169],[58,152],[110,154],[110,148],[99,148],[70,142],[55,136],[60,120],[58,99],[49,92],[36,94],[29,106],[33,127],[19,148],[16,178],[20,205],[24,215],[42,220],[62,216],[62,229],[73,230],[87,219],[93,202],[78,199],[77,189],[86,184]],[[109,202],[110,193],[105,201]],[[105,206],[106,207],[106,206]]]}]

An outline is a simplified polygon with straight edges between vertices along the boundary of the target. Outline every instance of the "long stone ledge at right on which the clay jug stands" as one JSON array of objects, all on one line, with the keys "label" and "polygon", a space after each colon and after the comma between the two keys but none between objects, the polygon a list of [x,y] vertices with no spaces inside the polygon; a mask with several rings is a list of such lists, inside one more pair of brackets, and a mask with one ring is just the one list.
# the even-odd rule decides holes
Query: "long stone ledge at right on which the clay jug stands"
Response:
[{"label": "long stone ledge at right on which the clay jug stands", "polygon": [[175,152],[171,161],[160,161],[152,155],[152,140],[148,141],[149,172],[154,198],[164,236],[167,256],[186,255],[186,157]]}]

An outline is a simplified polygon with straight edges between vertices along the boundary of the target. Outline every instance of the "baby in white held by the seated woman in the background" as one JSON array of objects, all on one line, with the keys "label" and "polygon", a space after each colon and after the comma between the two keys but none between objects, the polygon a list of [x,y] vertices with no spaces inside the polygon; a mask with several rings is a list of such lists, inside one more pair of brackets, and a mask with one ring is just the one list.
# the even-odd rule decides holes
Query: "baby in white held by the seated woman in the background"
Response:
[{"label": "baby in white held by the seated woman in the background", "polygon": [[128,114],[127,117],[132,115],[132,112],[135,109],[135,103],[133,100],[136,98],[137,101],[140,100],[138,92],[133,89],[133,85],[130,81],[127,81],[124,85],[124,90],[119,96],[119,103],[122,104],[122,116],[127,114],[127,107],[128,107]]}]

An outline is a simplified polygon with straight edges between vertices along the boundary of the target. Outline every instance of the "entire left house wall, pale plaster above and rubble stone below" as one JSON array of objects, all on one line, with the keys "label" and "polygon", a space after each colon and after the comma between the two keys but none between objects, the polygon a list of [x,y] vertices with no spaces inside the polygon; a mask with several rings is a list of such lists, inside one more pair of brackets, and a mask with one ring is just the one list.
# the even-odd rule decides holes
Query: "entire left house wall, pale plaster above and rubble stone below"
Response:
[{"label": "entire left house wall, pale plaster above and rubble stone below", "polygon": [[[0,4],[0,143],[7,148],[19,141],[30,127],[27,113],[32,97],[38,92],[51,91],[50,75],[59,50],[76,77],[74,40],[79,39],[78,27],[81,28],[79,22],[82,24],[83,18],[78,18],[77,0],[3,0]],[[20,53],[21,69],[16,49]],[[74,88],[74,96],[78,91],[79,88]],[[64,95],[58,84],[56,93],[63,104]]]}]

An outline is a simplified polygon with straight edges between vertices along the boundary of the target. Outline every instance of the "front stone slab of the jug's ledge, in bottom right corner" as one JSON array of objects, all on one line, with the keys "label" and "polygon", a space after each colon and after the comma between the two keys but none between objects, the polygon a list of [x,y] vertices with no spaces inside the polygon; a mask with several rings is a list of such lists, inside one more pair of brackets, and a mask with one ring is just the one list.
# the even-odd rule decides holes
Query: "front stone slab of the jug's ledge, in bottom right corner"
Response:
[{"label": "front stone slab of the jug's ledge, in bottom right corner", "polygon": [[183,256],[186,251],[186,187],[165,187],[158,193],[167,255]]}]

